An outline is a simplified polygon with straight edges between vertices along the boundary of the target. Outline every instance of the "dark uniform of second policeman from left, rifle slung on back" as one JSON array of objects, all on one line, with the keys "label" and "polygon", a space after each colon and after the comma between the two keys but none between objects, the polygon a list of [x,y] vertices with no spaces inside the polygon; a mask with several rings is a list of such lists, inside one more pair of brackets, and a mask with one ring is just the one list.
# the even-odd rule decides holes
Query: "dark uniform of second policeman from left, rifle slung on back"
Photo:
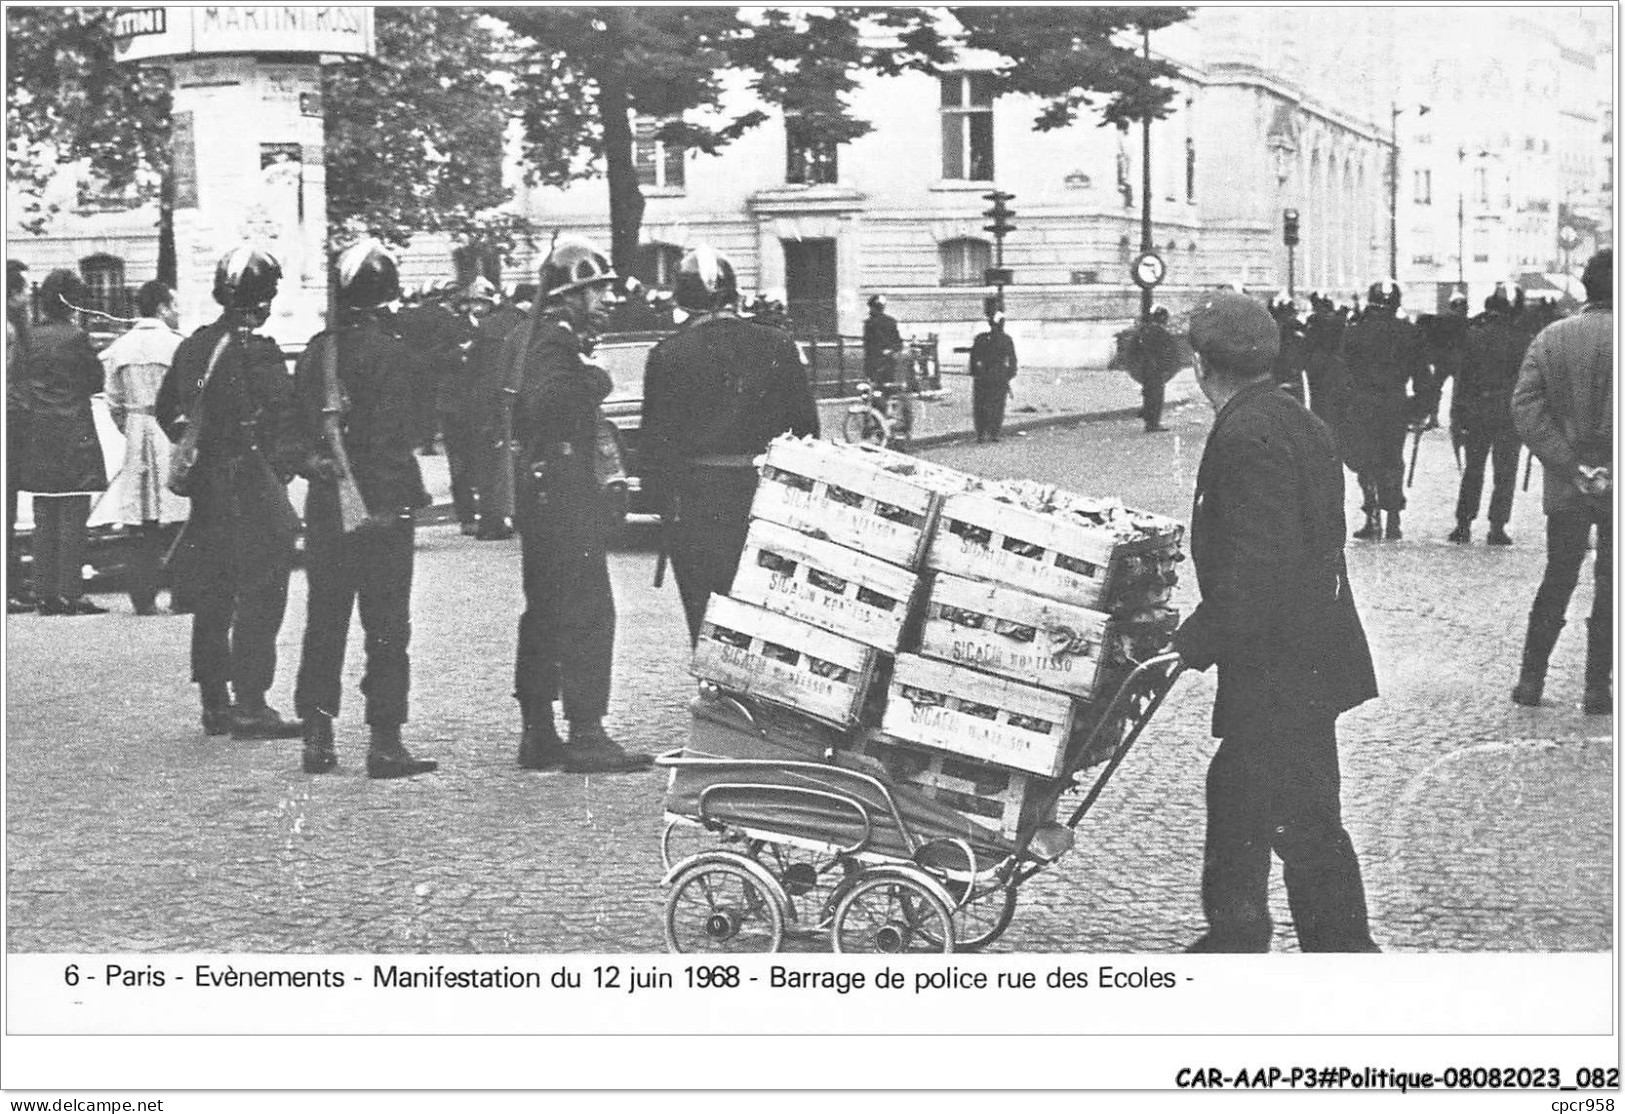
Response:
[{"label": "dark uniform of second policeman from left, rifle slung on back", "polygon": [[411,641],[413,510],[429,495],[413,456],[413,383],[421,354],[400,338],[387,310],[346,312],[338,330],[318,333],[294,373],[304,437],[332,460],[325,440],[323,349],[338,344],[341,429],[349,468],[372,518],[346,534],[338,484],[312,476],[306,505],[306,572],[310,583],[304,654],[294,705],[302,718],[340,708],[344,641],[359,599],[367,671],[361,692],[369,726],[406,723]]}]

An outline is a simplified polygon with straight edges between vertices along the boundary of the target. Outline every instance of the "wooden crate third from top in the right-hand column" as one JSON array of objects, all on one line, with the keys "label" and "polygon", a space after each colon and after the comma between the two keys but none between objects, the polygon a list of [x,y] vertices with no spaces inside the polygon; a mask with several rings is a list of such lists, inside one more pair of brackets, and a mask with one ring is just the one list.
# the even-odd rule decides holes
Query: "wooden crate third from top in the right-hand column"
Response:
[{"label": "wooden crate third from top in the right-hand column", "polygon": [[915,654],[899,654],[881,729],[1045,778],[1061,773],[1071,697]]}]

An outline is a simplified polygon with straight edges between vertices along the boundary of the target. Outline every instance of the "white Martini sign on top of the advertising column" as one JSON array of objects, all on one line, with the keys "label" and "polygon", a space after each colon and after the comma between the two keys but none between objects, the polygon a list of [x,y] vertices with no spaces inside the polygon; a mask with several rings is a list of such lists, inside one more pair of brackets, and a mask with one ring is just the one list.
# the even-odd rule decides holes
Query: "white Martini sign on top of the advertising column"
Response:
[{"label": "white Martini sign on top of the advertising column", "polygon": [[125,8],[114,16],[122,62],[198,55],[372,55],[370,6]]}]

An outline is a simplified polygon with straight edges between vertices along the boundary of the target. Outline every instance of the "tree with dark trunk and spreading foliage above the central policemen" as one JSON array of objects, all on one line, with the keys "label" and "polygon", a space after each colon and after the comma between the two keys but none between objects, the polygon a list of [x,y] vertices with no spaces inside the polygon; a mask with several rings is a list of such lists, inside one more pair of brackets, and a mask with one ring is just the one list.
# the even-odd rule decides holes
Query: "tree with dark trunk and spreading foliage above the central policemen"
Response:
[{"label": "tree with dark trunk and spreading foliage above the central policemen", "polygon": [[[566,185],[603,172],[609,184],[611,255],[637,266],[644,192],[634,140],[715,153],[767,114],[728,115],[723,75],[738,71],[767,104],[798,114],[803,135],[845,143],[869,123],[847,110],[858,71],[900,73],[946,62],[921,8],[491,8],[523,44],[515,58],[528,172]],[[864,34],[868,31],[869,34]]]}]

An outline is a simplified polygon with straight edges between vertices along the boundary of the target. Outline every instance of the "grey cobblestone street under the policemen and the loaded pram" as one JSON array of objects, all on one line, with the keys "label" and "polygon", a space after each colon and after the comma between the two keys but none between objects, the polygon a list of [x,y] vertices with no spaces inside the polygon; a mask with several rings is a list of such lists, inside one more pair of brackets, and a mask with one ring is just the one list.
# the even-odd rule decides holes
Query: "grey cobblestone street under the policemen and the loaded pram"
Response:
[{"label": "grey cobblestone street under the policemen and the loaded pram", "polygon": [[[1155,437],[1112,417],[928,455],[1185,521],[1209,419],[1191,403]],[[1505,551],[1443,541],[1454,484],[1448,435],[1432,434],[1406,541],[1349,547],[1383,689],[1341,732],[1373,930],[1398,952],[1607,950],[1612,719],[1578,710],[1589,565],[1547,706],[1516,708],[1508,690],[1544,557],[1539,477],[1518,495]],[[608,726],[645,750],[681,745],[692,693],[676,591],[650,588],[652,542],[635,528],[611,557],[621,625]],[[411,781],[361,773],[359,630],[341,766],[310,778],[297,741],[202,734],[188,620],[102,601],[114,614],[6,625],[11,952],[663,950],[663,775],[514,765],[517,542],[419,531],[408,742],[442,768]],[[1193,583],[1178,602],[1194,602]],[[284,711],[302,627],[296,575],[271,692]],[[1211,702],[1211,674],[1178,682],[1076,849],[1022,888],[998,950],[1172,952],[1199,932]],[[1277,947],[1292,948],[1276,877]]]}]

